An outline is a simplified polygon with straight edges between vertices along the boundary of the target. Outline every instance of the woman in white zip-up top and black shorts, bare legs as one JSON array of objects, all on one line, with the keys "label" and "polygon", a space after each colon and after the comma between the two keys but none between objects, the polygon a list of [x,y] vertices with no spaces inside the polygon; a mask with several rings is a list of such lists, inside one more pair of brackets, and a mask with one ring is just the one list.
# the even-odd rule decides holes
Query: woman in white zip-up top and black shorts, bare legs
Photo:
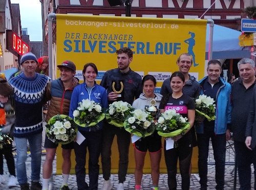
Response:
[{"label": "woman in white zip-up top and black shorts, bare legs", "polygon": [[[133,107],[135,109],[146,110],[147,107],[151,106],[151,100],[155,99],[155,106],[158,108],[160,101],[162,99],[161,94],[155,94],[154,90],[156,88],[156,78],[150,74],[145,75],[142,79],[142,85],[144,93],[140,95],[138,99],[133,102]],[[159,180],[159,165],[161,159],[161,137],[155,131],[152,135],[145,138],[141,138],[134,143],[134,155],[135,155],[135,189],[141,188],[141,179],[143,175],[143,166],[145,155],[148,150],[150,152],[151,158],[151,177],[153,181],[152,189],[158,189],[158,180]]]}]

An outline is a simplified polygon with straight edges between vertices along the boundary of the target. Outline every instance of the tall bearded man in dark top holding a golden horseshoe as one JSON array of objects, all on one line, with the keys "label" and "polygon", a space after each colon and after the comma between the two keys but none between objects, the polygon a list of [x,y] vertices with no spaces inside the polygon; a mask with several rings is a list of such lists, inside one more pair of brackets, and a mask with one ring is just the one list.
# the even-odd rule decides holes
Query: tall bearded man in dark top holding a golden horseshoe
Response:
[{"label": "tall bearded man in dark top holding a golden horseshoe", "polygon": [[[133,104],[134,99],[139,98],[142,93],[141,76],[131,70],[130,64],[133,61],[133,51],[130,48],[123,47],[116,50],[118,68],[106,71],[100,85],[108,92],[109,104],[114,101],[124,101]],[[102,190],[110,190],[113,185],[110,181],[111,171],[111,146],[115,135],[117,135],[117,144],[119,150],[119,184],[117,190],[123,190],[123,182],[127,173],[129,162],[129,146],[131,134],[124,127],[116,127],[109,123],[103,123],[102,138]]]}]

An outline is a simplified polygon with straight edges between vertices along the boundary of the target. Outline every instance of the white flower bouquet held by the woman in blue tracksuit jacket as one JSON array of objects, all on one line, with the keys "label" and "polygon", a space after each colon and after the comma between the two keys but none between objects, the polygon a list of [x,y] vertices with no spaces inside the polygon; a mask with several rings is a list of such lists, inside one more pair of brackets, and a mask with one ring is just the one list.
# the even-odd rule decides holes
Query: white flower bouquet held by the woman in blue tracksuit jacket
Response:
[{"label": "white flower bouquet held by the woman in blue tracksuit jacket", "polygon": [[97,123],[105,118],[105,114],[99,103],[95,103],[93,100],[83,99],[78,104],[80,106],[73,112],[75,123],[82,127],[98,128]]}]

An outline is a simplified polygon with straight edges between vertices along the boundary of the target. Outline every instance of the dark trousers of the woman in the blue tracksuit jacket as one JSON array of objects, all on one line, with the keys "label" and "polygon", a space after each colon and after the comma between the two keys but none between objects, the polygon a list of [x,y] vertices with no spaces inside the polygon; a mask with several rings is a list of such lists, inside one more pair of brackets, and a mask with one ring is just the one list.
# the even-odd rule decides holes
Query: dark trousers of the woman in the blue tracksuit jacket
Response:
[{"label": "dark trousers of the woman in the blue tracksuit jacket", "polygon": [[[98,189],[99,176],[99,155],[102,144],[102,130],[96,131],[79,131],[86,139],[78,145],[74,143],[76,156],[76,182],[78,190],[95,190]],[[89,151],[89,179],[90,184],[86,183],[86,153]]]}]

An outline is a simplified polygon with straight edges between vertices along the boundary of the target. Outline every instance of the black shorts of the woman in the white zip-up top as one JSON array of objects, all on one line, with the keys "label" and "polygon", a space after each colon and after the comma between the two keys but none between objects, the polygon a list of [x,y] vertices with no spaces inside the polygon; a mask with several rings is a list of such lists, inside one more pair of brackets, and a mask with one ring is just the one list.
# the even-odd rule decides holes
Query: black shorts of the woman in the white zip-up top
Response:
[{"label": "black shorts of the woman in the white zip-up top", "polygon": [[162,148],[162,139],[161,136],[155,131],[153,134],[140,138],[134,143],[134,148],[140,152],[154,153],[158,152]]}]

